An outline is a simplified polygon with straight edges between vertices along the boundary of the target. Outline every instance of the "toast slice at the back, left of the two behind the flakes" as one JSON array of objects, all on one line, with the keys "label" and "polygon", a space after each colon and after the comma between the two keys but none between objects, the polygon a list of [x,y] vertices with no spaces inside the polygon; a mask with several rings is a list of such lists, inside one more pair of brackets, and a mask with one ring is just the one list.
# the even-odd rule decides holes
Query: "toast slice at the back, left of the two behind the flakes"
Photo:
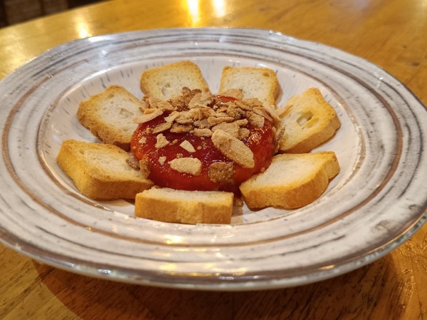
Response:
[{"label": "toast slice at the back, left of the two behind the flakes", "polygon": [[209,91],[199,66],[191,61],[179,61],[144,71],[140,86],[144,94],[161,100],[181,95],[183,87]]}]

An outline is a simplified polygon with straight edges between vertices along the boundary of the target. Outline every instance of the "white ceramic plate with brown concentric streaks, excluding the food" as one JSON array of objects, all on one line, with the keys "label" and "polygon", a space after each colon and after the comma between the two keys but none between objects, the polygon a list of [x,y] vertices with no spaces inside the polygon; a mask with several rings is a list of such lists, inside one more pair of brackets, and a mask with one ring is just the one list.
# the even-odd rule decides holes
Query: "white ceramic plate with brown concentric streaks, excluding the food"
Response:
[{"label": "white ceramic plate with brown concentric streaks, excluding the food", "polygon": [[[95,141],[78,103],[120,84],[141,97],[146,68],[190,59],[212,91],[223,66],[266,66],[279,104],[320,88],[342,128],[317,150],[342,171],[300,210],[246,207],[230,225],[132,216],[94,202],[55,158],[64,139]],[[0,238],[41,262],[137,284],[211,290],[290,287],[349,272],[395,249],[426,220],[427,112],[386,71],[335,48],[257,29],[169,29],[96,36],[43,53],[0,83]]]}]

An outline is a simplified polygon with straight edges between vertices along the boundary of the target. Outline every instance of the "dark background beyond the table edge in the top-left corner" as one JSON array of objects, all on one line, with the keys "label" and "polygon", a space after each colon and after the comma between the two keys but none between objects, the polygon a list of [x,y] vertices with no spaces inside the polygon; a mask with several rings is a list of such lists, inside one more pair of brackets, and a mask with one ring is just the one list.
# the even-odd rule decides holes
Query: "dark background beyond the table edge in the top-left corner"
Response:
[{"label": "dark background beyond the table edge in the top-left corner", "polygon": [[98,0],[0,0],[0,28]]}]

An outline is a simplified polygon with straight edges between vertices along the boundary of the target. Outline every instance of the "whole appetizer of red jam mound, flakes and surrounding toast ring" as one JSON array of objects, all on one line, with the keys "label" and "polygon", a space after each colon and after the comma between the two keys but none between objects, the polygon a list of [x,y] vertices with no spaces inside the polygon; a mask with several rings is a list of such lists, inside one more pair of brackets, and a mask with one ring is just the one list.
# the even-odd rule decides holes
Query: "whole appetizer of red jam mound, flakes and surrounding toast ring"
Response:
[{"label": "whole appetizer of red jam mound, flakes and surrounding toast ring", "polygon": [[180,61],[144,71],[138,99],[119,84],[80,103],[78,120],[102,143],[65,140],[57,161],[96,200],[135,200],[135,216],[230,223],[233,206],[294,209],[339,173],[333,150],[311,153],[340,127],[310,88],[278,106],[268,68],[223,69],[212,93],[199,67]]}]

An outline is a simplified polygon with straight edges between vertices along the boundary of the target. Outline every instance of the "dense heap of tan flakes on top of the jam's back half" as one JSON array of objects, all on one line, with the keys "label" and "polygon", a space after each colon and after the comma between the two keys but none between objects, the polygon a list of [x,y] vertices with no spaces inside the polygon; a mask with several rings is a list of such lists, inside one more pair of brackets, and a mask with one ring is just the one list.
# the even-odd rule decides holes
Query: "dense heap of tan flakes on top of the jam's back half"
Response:
[{"label": "dense heap of tan flakes on top of the jam's back half", "polygon": [[[242,92],[232,89],[224,93],[224,96],[241,99]],[[148,108],[144,110],[144,115],[136,119],[139,123],[156,118],[165,110],[169,113],[164,120],[172,125],[169,127],[162,123],[153,129],[154,133],[160,133],[163,130],[171,130],[172,133],[191,131],[196,135],[209,136],[210,131],[196,129],[214,131],[213,127],[220,123],[235,123],[238,127],[243,128],[248,122],[256,128],[262,128],[265,119],[272,121],[274,126],[278,126],[280,123],[280,118],[273,107],[263,104],[258,98],[222,102],[220,98],[208,91],[190,90],[184,87],[181,96],[173,97],[168,101],[147,96],[142,100],[148,105]],[[233,135],[238,138],[246,136],[246,134],[237,135],[234,126],[227,126],[227,128],[233,130]],[[229,130],[226,131],[229,132]]]}]

